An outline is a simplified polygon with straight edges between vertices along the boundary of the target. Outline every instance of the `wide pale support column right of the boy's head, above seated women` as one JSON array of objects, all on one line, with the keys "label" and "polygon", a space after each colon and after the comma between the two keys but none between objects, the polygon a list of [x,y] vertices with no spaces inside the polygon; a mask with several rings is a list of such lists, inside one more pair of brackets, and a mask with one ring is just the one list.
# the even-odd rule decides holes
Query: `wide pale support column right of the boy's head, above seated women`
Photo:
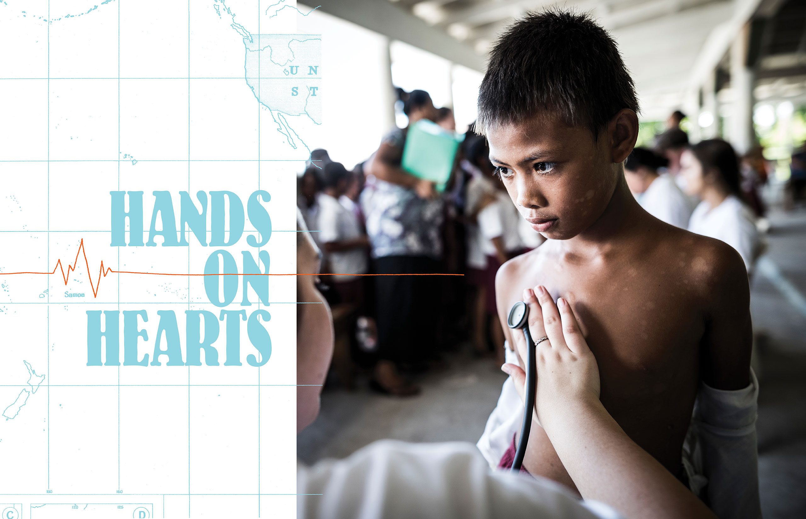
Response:
[{"label": "wide pale support column right of the boy's head, above seated women", "polygon": [[754,71],[747,66],[750,25],[746,24],[736,35],[730,49],[730,86],[733,106],[729,117],[728,138],[737,154],[745,154],[755,144],[753,130]]}]

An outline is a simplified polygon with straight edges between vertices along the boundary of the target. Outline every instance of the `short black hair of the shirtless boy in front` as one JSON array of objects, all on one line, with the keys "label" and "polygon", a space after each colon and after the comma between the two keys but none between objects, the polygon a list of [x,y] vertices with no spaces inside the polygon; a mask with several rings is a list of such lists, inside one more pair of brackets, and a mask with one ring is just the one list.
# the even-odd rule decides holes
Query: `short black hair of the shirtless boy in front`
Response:
[{"label": "short black hair of the shirtless boy in front", "polygon": [[553,8],[527,13],[492,47],[476,131],[545,111],[596,138],[625,108],[638,113],[638,98],[616,42],[589,14]]}]

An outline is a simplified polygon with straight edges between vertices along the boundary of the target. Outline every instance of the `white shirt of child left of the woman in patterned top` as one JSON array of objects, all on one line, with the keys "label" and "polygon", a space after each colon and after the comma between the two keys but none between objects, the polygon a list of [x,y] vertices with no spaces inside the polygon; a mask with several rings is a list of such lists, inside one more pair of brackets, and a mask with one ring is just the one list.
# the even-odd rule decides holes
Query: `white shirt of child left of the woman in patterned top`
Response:
[{"label": "white shirt of child left of the woman in patterned top", "polygon": [[[350,212],[333,196],[319,193],[318,224],[320,243],[354,240],[361,237],[361,224],[355,213]],[[339,274],[366,274],[367,253],[364,249],[343,250],[327,254],[330,271]],[[333,276],[335,281],[351,281],[352,276]]]}]

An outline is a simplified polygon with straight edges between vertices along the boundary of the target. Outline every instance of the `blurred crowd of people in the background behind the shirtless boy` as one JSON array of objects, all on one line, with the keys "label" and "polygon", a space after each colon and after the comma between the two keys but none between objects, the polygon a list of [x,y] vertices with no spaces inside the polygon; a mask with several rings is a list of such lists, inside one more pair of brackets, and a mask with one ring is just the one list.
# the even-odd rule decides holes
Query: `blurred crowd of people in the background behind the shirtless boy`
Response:
[{"label": "blurred crowd of people in the background behind the shirtless boy", "polygon": [[[428,119],[455,131],[451,109],[436,108],[428,93],[398,94],[409,126]],[[684,117],[673,113],[652,146],[630,154],[629,189],[660,220],[733,246],[750,274],[764,249],[759,190],[767,163],[760,148],[739,157],[721,139],[690,144],[680,129]],[[331,159],[338,150],[314,150],[297,197],[322,250],[320,283],[337,334],[346,336],[343,356],[353,373],[368,374],[373,389],[394,396],[417,394],[411,376],[438,369],[445,352],[464,344],[503,362],[496,271],[543,241],[520,217],[472,127],[442,192],[402,169],[407,132],[392,130],[350,170]],[[800,161],[793,160],[793,171],[803,169],[802,154]],[[350,370],[339,376],[352,385]]]}]

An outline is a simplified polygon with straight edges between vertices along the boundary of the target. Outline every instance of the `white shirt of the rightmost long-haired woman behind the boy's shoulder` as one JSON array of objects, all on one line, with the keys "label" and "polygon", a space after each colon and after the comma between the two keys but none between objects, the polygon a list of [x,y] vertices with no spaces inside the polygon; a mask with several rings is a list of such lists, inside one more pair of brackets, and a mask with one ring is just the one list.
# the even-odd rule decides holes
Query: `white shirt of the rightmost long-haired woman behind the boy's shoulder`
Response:
[{"label": "white shirt of the rightmost long-haired woman behind the boy's shoulder", "polygon": [[700,202],[688,222],[688,230],[717,238],[736,249],[742,256],[748,273],[752,271],[762,248],[762,239],[750,208],[733,195],[729,195],[715,208],[711,208],[708,202]]}]

